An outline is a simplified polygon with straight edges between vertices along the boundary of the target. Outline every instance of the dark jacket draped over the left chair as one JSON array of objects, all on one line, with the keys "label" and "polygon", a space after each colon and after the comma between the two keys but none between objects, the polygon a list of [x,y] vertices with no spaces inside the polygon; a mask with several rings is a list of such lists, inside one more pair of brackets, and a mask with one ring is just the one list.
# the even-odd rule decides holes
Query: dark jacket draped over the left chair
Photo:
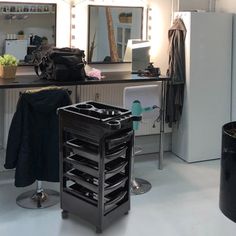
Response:
[{"label": "dark jacket draped over the left chair", "polygon": [[9,130],[5,168],[16,168],[15,186],[59,181],[57,108],[71,104],[63,89],[23,93]]}]

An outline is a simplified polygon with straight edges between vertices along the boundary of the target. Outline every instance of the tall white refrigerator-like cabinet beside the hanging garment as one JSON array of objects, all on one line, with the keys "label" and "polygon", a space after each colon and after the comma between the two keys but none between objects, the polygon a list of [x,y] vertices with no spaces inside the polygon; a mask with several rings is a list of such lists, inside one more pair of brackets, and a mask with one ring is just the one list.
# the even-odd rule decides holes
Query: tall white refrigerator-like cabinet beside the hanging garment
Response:
[{"label": "tall white refrigerator-like cabinet beside the hanging garment", "polygon": [[232,15],[176,12],[187,29],[186,84],[172,152],[187,162],[221,156],[221,129],[230,121]]}]

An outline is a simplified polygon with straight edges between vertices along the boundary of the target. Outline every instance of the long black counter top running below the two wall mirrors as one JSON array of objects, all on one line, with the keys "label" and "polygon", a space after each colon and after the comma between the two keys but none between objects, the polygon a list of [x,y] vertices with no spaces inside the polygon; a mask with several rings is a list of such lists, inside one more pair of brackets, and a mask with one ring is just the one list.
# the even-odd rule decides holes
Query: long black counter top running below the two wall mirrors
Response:
[{"label": "long black counter top running below the two wall mirrors", "polygon": [[101,80],[81,80],[58,82],[39,79],[32,67],[17,69],[15,79],[0,78],[0,89],[5,88],[29,88],[29,87],[44,87],[44,86],[70,86],[70,85],[87,85],[87,84],[111,84],[111,83],[130,83],[130,82],[151,82],[168,80],[168,77],[142,77],[130,72],[104,72],[104,78]]}]

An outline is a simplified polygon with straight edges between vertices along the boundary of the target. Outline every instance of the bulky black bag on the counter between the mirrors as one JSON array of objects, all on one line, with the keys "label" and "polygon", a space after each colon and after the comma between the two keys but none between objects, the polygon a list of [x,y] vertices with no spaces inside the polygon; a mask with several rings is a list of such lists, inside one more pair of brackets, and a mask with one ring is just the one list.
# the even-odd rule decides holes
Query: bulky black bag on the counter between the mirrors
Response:
[{"label": "bulky black bag on the counter between the mirrors", "polygon": [[56,81],[85,80],[85,55],[78,48],[53,48],[34,66],[40,79]]}]

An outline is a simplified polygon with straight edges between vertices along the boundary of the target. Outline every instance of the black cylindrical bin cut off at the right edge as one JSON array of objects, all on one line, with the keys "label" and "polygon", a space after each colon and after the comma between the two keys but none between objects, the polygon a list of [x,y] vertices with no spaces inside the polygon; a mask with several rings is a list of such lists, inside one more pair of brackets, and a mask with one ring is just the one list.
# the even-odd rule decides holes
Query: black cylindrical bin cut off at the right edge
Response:
[{"label": "black cylindrical bin cut off at the right edge", "polygon": [[236,122],[222,127],[220,209],[236,222]]}]

